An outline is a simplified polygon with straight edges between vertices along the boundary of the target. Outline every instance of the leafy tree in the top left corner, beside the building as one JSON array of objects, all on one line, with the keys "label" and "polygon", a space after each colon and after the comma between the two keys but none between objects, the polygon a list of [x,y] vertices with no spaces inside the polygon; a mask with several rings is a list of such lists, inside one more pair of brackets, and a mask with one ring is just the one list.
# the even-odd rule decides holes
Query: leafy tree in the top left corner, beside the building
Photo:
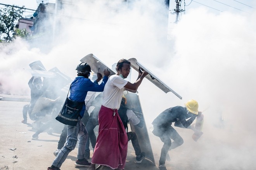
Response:
[{"label": "leafy tree in the top left corner, beside the building", "polygon": [[24,10],[24,6],[19,8],[15,5],[0,9],[0,40],[12,41],[12,34],[15,32],[17,22],[22,18]]}]

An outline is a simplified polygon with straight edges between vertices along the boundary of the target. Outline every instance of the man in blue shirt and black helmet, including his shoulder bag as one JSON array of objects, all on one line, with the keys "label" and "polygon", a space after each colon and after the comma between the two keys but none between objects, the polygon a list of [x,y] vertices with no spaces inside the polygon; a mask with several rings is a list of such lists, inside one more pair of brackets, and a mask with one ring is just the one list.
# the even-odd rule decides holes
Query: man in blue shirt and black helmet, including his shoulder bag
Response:
[{"label": "man in blue shirt and black helmet, including his shoulder bag", "polygon": [[[104,70],[104,78],[102,83],[99,85],[98,82],[102,79],[102,75],[97,73],[97,80],[92,82],[88,77],[90,76],[91,67],[87,63],[80,63],[77,67],[77,77],[71,83],[69,89],[69,97],[61,113],[56,117],[60,122],[68,125],[67,130],[67,141],[59,154],[56,156],[51,167],[47,170],[60,170],[62,163],[66,160],[67,155],[70,151],[74,150],[76,147],[76,142],[79,139],[78,144],[78,154],[75,166],[77,167],[89,167],[91,163],[84,158],[85,154],[85,143],[88,137],[88,133],[85,129],[85,125],[81,121],[83,114],[85,112],[85,97],[88,91],[92,92],[102,92],[104,90],[105,84],[110,75],[110,71]],[[80,108],[80,107],[81,108]],[[75,113],[79,113],[78,116]],[[74,115],[73,115],[74,114]],[[74,117],[71,117],[73,115]],[[76,123],[74,123],[76,122]]]}]

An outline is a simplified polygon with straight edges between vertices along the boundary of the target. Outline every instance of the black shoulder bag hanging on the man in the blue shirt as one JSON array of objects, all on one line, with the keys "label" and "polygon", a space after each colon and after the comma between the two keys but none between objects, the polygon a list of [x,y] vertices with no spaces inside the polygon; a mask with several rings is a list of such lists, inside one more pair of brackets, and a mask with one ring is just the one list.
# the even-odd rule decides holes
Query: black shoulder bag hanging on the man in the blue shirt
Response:
[{"label": "black shoulder bag hanging on the man in the blue shirt", "polygon": [[[71,85],[69,87],[69,90],[70,88],[71,88]],[[67,96],[69,94],[69,90],[68,90]],[[84,105],[85,105],[85,101],[75,102],[73,100],[70,100],[67,97],[61,109],[61,112],[55,119],[63,124],[76,126],[78,122],[78,118],[80,116],[81,109],[83,108]]]}]

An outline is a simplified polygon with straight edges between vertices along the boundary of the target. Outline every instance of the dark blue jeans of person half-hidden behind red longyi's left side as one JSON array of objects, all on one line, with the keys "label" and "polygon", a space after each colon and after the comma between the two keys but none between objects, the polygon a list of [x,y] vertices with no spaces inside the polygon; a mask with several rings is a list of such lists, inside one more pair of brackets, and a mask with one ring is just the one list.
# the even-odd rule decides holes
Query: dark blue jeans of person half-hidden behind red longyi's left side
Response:
[{"label": "dark blue jeans of person half-hidden behind red longyi's left side", "polygon": [[95,133],[93,131],[93,129],[99,125],[99,122],[98,122],[98,119],[95,119],[95,118],[92,118],[90,117],[88,119],[88,122],[85,126],[87,132],[88,132],[88,136],[89,136],[89,139],[90,140],[87,140],[86,142],[86,145],[85,145],[85,152],[90,152],[90,141],[91,141],[91,144],[92,144],[92,148],[94,149],[95,148],[95,145],[96,145],[96,136],[95,136]]}]

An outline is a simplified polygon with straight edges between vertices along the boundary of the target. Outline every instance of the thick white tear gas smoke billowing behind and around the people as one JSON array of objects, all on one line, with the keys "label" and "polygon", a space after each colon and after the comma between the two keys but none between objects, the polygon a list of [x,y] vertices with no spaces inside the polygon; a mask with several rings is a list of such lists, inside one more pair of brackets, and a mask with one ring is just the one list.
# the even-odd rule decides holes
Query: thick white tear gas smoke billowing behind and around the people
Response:
[{"label": "thick white tear gas smoke billowing behind and around the people", "polygon": [[[47,53],[21,39],[0,45],[2,93],[29,95],[31,75],[22,69],[29,69],[29,63],[36,60],[47,70],[56,66],[74,78],[76,65],[89,53],[108,66],[121,58],[137,58],[183,97],[180,100],[171,92],[166,94],[144,80],[138,94],[148,128],[163,110],[183,106],[189,99],[198,101],[199,110],[206,109],[199,141],[192,140],[189,129],[175,128],[185,141],[170,151],[170,164],[175,169],[186,169],[180,162],[187,162],[190,169],[253,169],[255,14],[213,14],[196,8],[171,24],[171,40],[167,41],[168,9],[163,2],[74,3],[62,12],[72,19],[56,18],[61,19],[62,29]],[[132,74],[131,82],[137,72]],[[160,154],[160,139],[153,136],[152,140],[152,147],[159,147],[153,152]]]}]

